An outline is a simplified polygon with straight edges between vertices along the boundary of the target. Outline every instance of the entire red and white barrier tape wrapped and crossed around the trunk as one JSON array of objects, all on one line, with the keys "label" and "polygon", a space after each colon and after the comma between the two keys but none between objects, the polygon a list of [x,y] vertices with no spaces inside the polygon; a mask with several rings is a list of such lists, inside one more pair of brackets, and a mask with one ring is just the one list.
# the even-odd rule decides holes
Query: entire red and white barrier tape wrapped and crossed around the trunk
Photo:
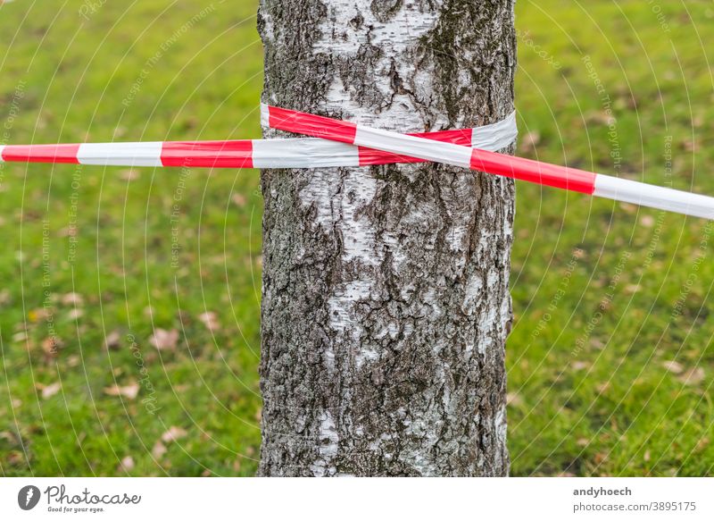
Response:
[{"label": "entire red and white barrier tape wrapped and crossed around the trunk", "polygon": [[0,146],[0,162],[209,168],[320,168],[435,162],[596,197],[714,218],[714,197],[567,166],[497,154],[517,137],[515,113],[468,130],[400,134],[324,116],[261,106],[264,126],[305,139],[153,141]]}]

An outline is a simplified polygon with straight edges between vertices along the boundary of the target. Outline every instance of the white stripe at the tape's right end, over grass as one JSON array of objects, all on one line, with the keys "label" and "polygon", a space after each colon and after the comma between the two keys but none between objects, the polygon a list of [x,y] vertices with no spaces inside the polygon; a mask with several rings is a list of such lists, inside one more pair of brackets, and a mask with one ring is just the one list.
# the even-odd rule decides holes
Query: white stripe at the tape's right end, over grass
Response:
[{"label": "white stripe at the tape's right end, over grass", "polygon": [[714,199],[599,173],[594,196],[607,197],[635,205],[651,206],[668,212],[714,218]]}]

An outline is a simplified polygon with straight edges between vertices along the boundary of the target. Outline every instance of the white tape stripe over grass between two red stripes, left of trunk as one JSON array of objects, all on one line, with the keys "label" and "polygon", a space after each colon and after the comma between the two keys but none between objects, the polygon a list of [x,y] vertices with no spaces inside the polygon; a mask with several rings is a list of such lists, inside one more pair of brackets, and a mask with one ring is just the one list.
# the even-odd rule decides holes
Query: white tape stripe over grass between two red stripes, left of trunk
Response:
[{"label": "white tape stripe over grass between two red stripes, left of trunk", "polygon": [[140,143],[85,143],[77,152],[79,164],[162,166],[162,141]]}]

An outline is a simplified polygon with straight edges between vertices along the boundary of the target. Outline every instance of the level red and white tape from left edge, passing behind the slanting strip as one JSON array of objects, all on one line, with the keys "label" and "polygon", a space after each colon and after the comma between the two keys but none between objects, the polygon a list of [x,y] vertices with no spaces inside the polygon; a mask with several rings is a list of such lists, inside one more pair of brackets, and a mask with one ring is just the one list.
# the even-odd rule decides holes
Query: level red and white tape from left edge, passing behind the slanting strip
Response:
[{"label": "level red and white tape from left edge, passing behind the slanting strip", "polygon": [[[465,147],[499,150],[518,134],[516,114],[477,129],[418,134]],[[245,139],[232,141],[154,141],[82,145],[0,146],[0,161],[107,166],[194,166],[211,168],[319,168],[420,163],[366,147],[326,139]]]}]

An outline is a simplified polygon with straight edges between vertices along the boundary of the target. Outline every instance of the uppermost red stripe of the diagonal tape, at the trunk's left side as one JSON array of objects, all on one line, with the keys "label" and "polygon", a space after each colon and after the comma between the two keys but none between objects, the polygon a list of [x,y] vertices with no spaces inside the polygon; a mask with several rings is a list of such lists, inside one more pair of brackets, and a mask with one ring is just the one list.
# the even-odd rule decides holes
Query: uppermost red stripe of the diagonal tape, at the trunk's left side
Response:
[{"label": "uppermost red stripe of the diagonal tape, at the trunk's left side", "polygon": [[299,113],[286,108],[269,106],[269,124],[273,129],[287,130],[314,138],[332,139],[354,143],[357,125],[308,113]]}]

